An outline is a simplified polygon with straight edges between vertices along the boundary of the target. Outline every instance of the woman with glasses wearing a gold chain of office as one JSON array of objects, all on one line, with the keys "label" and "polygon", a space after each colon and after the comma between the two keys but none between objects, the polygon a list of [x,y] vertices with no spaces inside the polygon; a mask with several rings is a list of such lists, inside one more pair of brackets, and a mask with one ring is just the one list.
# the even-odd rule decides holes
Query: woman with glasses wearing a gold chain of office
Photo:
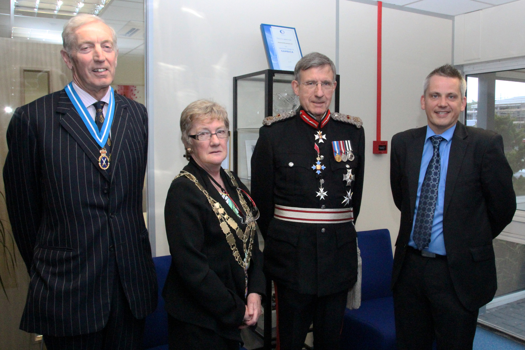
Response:
[{"label": "woman with glasses wearing a gold chain of office", "polygon": [[180,124],[189,163],[164,208],[170,349],[238,350],[240,329],[257,323],[265,291],[258,210],[237,175],[221,167],[230,135],[224,107],[192,102]]}]

